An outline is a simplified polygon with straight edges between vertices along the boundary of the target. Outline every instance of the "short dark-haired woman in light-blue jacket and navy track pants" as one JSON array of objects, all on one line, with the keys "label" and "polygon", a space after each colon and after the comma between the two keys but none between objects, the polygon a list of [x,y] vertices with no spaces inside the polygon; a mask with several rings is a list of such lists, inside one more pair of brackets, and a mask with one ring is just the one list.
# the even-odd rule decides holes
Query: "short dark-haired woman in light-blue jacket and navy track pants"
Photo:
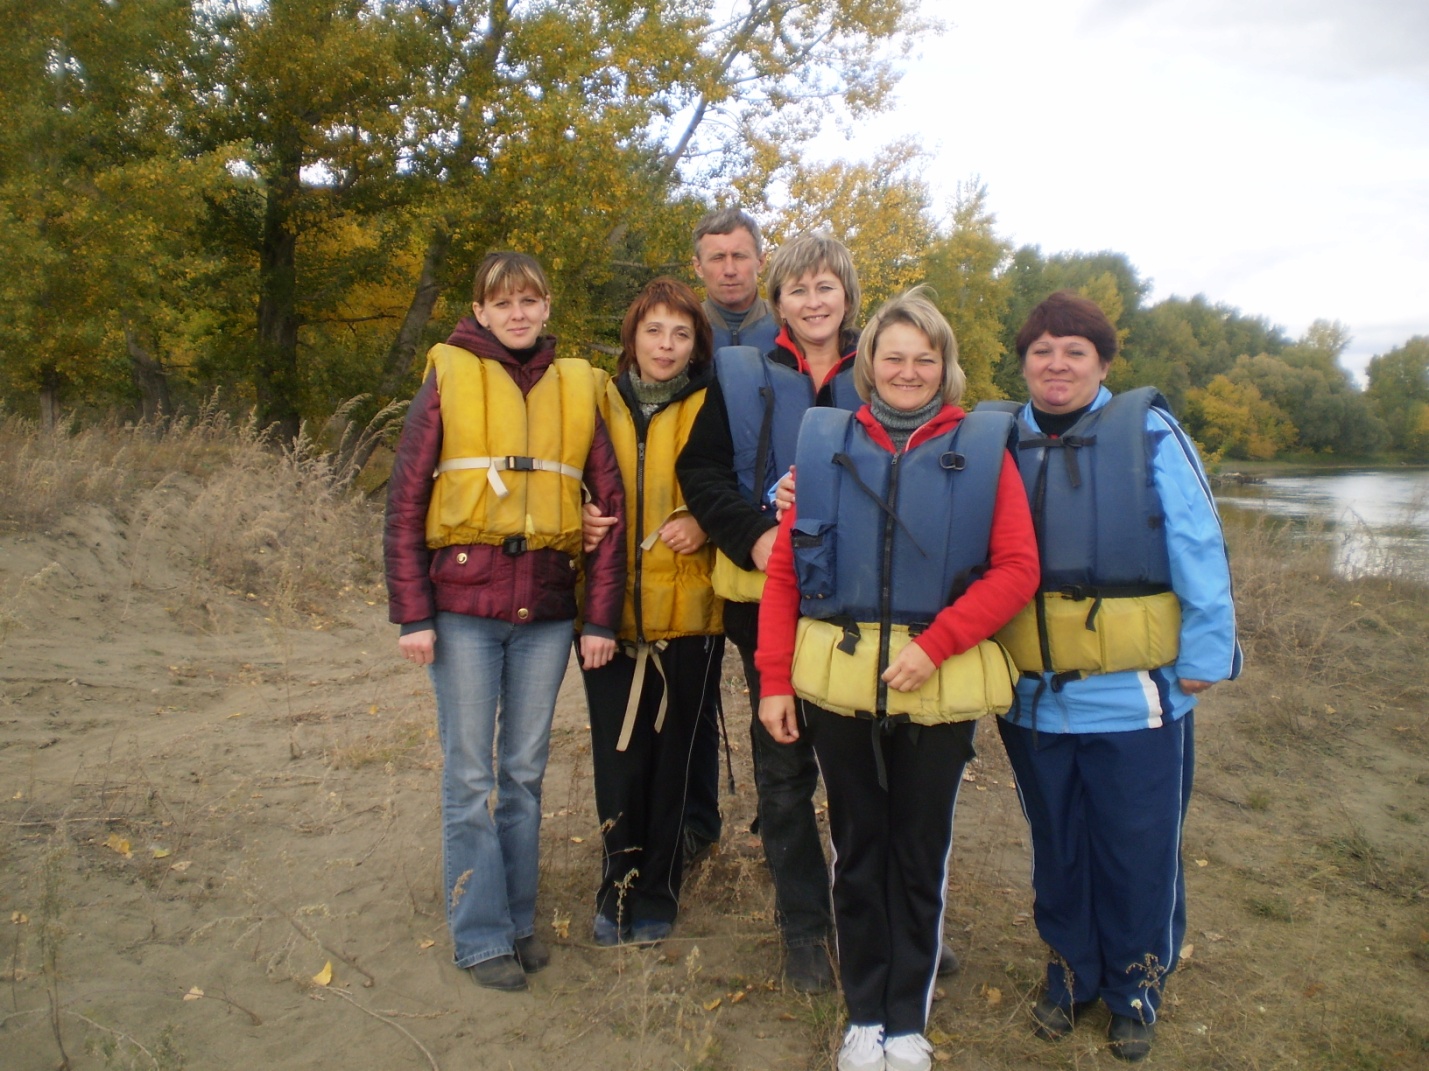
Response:
[{"label": "short dark-haired woman in light-blue jacket and navy track pants", "polygon": [[1186,932],[1192,711],[1240,658],[1196,448],[1159,393],[1102,385],[1116,346],[1102,310],[1067,290],[1017,333],[1030,396],[1017,460],[1042,582],[999,633],[1022,671],[999,729],[1052,952],[1035,1032],[1060,1040],[1100,1000],[1112,1054],[1137,1061]]}]

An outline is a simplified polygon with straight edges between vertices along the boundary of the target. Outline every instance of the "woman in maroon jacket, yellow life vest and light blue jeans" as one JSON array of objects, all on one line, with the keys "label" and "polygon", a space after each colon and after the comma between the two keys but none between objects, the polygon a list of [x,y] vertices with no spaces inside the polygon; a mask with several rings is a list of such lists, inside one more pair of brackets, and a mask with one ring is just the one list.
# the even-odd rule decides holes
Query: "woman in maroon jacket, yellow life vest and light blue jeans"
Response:
[{"label": "woman in maroon jacket, yellow life vest and light blue jeans", "polygon": [[492,253],[472,297],[474,319],[427,355],[397,445],[389,616],[403,658],[430,666],[436,691],[456,965],[479,985],[524,989],[550,961],[536,937],[540,788],[582,568],[586,668],[614,653],[624,596],[622,526],[583,555],[582,495],[623,518],[624,493],[594,370],[557,359],[542,333],[540,265]]}]

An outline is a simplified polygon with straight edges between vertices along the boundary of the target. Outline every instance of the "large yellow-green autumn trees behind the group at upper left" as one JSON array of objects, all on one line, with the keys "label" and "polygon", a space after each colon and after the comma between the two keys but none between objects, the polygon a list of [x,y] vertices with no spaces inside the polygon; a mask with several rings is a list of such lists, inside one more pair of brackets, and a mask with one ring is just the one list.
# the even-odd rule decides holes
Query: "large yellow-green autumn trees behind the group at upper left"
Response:
[{"label": "large yellow-green autumn trees behind the group at upper left", "polygon": [[[492,247],[542,259],[567,346],[609,339],[709,192],[763,189],[830,114],[880,107],[923,26],[912,0],[6,10],[7,392],[103,400],[147,360],[287,432],[409,390]],[[96,276],[127,305],[73,285]]]}]

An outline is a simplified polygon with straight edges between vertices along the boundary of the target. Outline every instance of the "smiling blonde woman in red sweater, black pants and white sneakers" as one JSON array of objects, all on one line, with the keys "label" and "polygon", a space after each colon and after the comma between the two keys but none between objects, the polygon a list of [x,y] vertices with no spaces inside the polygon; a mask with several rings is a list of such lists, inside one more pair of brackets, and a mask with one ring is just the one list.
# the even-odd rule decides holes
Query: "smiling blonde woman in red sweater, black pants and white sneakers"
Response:
[{"label": "smiling blonde woman in red sweater, black pants and white sneakers", "polygon": [[920,290],[863,330],[855,377],[867,405],[813,409],[800,429],[797,510],[759,616],[759,719],[782,744],[807,734],[829,791],[839,1071],[920,1071],[953,805],[976,719],[1012,702],[990,636],[1036,591],[1037,552],[1010,419],[957,408],[957,343]]}]

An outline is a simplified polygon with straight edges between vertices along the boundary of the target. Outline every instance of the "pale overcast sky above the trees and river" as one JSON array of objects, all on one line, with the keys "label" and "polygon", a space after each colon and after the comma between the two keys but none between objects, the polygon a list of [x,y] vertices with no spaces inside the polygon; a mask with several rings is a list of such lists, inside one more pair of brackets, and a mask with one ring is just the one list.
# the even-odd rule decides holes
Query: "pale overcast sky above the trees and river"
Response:
[{"label": "pale overcast sky above the trees and river", "polygon": [[1203,293],[1352,369],[1429,335],[1425,0],[923,0],[946,31],[899,104],[825,157],[915,136],[946,207],[980,176],[999,233],[1125,253],[1153,300]]}]

